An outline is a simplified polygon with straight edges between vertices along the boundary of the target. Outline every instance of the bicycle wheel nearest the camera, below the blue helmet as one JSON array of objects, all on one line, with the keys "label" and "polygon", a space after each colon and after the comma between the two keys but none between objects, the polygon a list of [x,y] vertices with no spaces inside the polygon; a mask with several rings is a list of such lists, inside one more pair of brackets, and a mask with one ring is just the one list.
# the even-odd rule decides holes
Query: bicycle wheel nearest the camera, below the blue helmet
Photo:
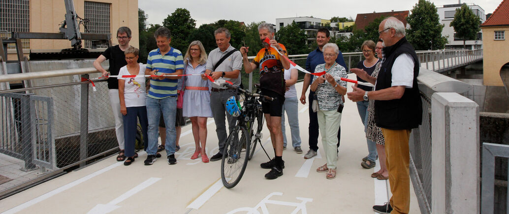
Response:
[{"label": "bicycle wheel nearest the camera, below the blue helmet", "polygon": [[242,178],[249,154],[248,132],[236,126],[228,136],[221,160],[221,180],[224,187],[235,187]]}]

